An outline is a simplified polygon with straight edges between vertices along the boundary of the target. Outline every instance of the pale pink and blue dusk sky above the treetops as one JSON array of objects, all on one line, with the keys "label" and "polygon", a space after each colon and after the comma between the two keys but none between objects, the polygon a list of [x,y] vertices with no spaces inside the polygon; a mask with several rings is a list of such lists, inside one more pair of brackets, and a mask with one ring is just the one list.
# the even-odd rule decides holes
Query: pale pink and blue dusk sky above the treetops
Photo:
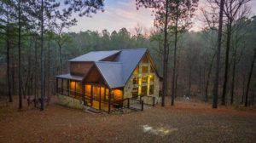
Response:
[{"label": "pale pink and blue dusk sky above the treetops", "polygon": [[[200,0],[199,8],[204,7],[205,0]],[[256,0],[252,0],[247,4],[251,8],[251,14],[256,14]],[[154,27],[154,16],[149,9],[136,9],[135,0],[106,0],[105,11],[92,14],[92,18],[79,17],[78,14],[73,14],[77,20],[77,26],[71,27],[68,31],[119,31],[125,27],[128,31],[133,30],[138,24],[147,29]],[[200,31],[202,24],[199,20],[200,11],[195,12],[193,27],[190,30]]]}]

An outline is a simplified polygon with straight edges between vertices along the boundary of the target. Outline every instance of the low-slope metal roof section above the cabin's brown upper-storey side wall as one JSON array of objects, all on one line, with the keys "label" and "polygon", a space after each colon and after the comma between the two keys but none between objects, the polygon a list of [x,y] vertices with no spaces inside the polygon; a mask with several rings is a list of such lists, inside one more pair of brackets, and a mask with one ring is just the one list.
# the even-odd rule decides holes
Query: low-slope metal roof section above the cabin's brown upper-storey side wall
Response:
[{"label": "low-slope metal roof section above the cabin's brown upper-storey side wall", "polygon": [[119,53],[119,50],[111,50],[111,51],[92,51],[87,54],[80,55],[69,61],[100,61],[108,58],[113,54]]}]

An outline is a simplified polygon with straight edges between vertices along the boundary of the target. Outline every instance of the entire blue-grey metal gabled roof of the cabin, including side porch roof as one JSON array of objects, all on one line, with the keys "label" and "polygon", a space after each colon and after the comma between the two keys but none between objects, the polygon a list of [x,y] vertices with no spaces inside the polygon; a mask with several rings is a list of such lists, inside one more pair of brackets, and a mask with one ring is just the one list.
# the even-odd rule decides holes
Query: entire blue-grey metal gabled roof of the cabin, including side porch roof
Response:
[{"label": "entire blue-grey metal gabled roof of the cabin, including side porch roof", "polygon": [[[69,61],[93,61],[96,68],[102,74],[105,82],[108,84],[108,87],[114,89],[125,86],[125,83],[131,77],[132,72],[136,69],[140,60],[142,60],[143,56],[146,55],[147,50],[148,49],[121,49],[111,51],[93,51]],[[117,56],[113,61],[104,61],[114,54]],[[156,74],[158,75],[157,72]],[[56,77],[74,80],[77,79],[78,81],[83,81],[84,79],[84,77],[73,76],[70,74]]]}]

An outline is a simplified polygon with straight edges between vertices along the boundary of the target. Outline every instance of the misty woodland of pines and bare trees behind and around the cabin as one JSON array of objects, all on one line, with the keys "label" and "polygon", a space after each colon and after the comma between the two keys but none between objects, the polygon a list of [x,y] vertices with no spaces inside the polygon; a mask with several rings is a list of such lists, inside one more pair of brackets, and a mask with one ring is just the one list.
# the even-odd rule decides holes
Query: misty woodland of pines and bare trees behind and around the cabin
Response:
[{"label": "misty woodland of pines and bare trees behind and around the cabin", "polygon": [[[256,16],[249,16],[247,2],[230,1],[230,5],[226,2],[224,7],[218,67],[218,98],[223,105],[245,102],[246,105],[253,105],[256,88],[253,72]],[[32,95],[39,97],[44,93],[46,96],[55,94],[55,75],[67,72],[67,61],[80,54],[93,50],[148,48],[160,75],[164,77],[163,83],[166,83],[165,79],[170,83],[163,84],[163,87],[166,86],[166,96],[186,95],[211,101],[218,53],[218,18],[214,13],[217,8],[212,6],[208,11],[201,9],[205,28],[189,31],[192,24],[189,18],[196,9],[196,3],[180,3],[181,8],[188,10],[183,12],[177,9],[181,11],[177,15],[180,17],[177,26],[172,24],[176,19],[170,18],[166,31],[159,12],[155,14],[158,23],[151,30],[145,30],[138,24],[131,31],[124,27],[112,32],[66,32],[69,27],[76,25],[77,20],[71,18],[73,13],[87,9],[79,11],[80,16],[91,16],[91,13],[103,9],[103,3],[94,3],[95,6],[90,7],[86,3],[67,1],[68,8],[60,10],[60,3],[50,0],[2,1],[1,98],[12,102],[17,94],[24,99]],[[213,1],[208,3],[214,4]],[[31,7],[28,8],[27,4]],[[142,4],[148,4],[148,7],[154,5],[138,1],[137,7],[143,7]],[[172,17],[173,14],[170,12],[166,15]],[[163,67],[167,69],[163,70]]]}]

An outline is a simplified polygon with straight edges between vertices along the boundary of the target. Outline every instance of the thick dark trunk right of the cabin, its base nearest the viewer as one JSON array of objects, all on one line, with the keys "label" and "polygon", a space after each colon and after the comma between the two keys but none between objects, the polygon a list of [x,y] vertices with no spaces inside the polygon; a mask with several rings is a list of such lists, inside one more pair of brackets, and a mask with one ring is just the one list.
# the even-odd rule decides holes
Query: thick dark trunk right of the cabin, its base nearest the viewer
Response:
[{"label": "thick dark trunk right of the cabin, its base nearest the viewer", "polygon": [[218,48],[217,48],[218,50],[217,50],[215,81],[214,81],[214,87],[213,87],[212,108],[218,108],[218,77],[219,77],[220,49],[221,49],[221,39],[222,39],[223,10],[224,10],[224,0],[221,0],[220,9],[219,9],[219,19],[218,19]]}]

